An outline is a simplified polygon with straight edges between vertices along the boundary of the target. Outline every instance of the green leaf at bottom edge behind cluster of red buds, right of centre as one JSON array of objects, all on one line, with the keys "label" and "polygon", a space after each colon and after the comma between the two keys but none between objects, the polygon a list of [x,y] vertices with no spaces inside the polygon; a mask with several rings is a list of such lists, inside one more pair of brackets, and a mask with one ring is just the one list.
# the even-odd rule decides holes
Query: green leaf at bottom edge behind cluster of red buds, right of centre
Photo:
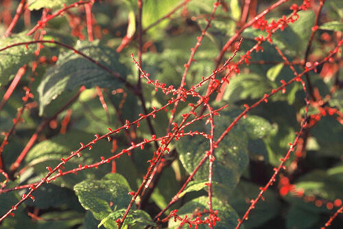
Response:
[{"label": "green leaf at bottom edge behind cluster of red buds, right of centre", "polygon": [[[178,209],[178,215],[180,215],[182,218],[184,218],[185,215],[187,215],[188,218],[191,218],[195,210],[202,211],[204,209],[208,209],[209,204],[207,204],[207,202],[209,202],[209,197],[205,196],[191,200]],[[213,210],[218,210],[218,217],[220,217],[220,221],[217,221],[215,224],[215,229],[235,228],[237,225],[238,215],[230,205],[224,204],[224,202],[221,202],[219,199],[213,197],[212,206]],[[203,220],[206,216],[208,215],[202,214],[201,219]],[[179,225],[180,221],[175,222],[174,218],[169,219],[168,228],[178,228]],[[185,224],[182,226],[182,228],[189,228],[189,225]],[[209,228],[209,226],[201,224],[198,228],[204,229]],[[244,228],[244,226],[241,226],[241,228]]]}]

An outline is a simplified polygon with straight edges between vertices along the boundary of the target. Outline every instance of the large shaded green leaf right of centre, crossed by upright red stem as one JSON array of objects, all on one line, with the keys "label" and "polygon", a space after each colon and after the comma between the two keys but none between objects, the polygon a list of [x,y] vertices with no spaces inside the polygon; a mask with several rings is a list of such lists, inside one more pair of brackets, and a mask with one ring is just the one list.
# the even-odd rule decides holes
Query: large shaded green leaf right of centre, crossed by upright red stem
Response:
[{"label": "large shaded green leaf right of centre, crossed by upright red stem", "polygon": [[[217,139],[226,126],[230,123],[231,118],[222,115],[215,117],[214,125],[215,139]],[[191,126],[201,128],[200,131],[209,132],[209,125],[203,122]],[[222,140],[214,151],[215,161],[213,162],[213,182],[218,185],[213,186],[213,193],[217,197],[227,197],[239,181],[241,173],[248,165],[248,139],[246,133],[241,128],[233,128],[228,135]],[[199,164],[200,160],[209,150],[209,141],[202,136],[184,136],[176,144],[176,149],[180,154],[180,160],[183,167],[188,173],[191,173]],[[195,180],[208,180],[209,162],[206,160],[196,173]]]}]

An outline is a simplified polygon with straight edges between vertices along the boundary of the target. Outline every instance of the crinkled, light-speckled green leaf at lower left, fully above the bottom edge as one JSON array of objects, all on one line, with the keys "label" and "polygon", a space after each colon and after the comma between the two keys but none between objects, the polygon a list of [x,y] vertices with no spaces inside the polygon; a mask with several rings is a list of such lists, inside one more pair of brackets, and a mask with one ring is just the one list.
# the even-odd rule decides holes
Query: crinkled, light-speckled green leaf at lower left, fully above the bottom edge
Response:
[{"label": "crinkled, light-speckled green leaf at lower left, fully above the bottom edge", "polygon": [[126,208],[131,200],[128,182],[118,173],[108,174],[102,180],[84,180],[74,186],[74,191],[84,209],[91,210],[99,220]]}]

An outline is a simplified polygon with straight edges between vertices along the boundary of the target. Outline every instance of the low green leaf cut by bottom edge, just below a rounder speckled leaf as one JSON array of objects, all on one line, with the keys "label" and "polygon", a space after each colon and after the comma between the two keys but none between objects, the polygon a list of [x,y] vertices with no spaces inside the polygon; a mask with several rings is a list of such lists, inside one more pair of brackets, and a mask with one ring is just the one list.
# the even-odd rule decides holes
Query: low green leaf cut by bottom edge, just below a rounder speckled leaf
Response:
[{"label": "low green leaf cut by bottom edge, just below a rounder speckled leaf", "polygon": [[[110,213],[110,215],[108,215],[105,219],[102,219],[98,227],[102,226],[103,224],[106,227],[106,222],[108,223],[108,221],[113,221],[115,223],[117,219],[123,217],[125,211],[126,209],[121,209],[116,210],[114,213]],[[144,228],[147,225],[154,226],[156,224],[154,223],[154,221],[152,221],[150,215],[147,214],[144,210],[130,210],[123,223],[123,226],[128,225],[130,225],[130,228]]]}]

